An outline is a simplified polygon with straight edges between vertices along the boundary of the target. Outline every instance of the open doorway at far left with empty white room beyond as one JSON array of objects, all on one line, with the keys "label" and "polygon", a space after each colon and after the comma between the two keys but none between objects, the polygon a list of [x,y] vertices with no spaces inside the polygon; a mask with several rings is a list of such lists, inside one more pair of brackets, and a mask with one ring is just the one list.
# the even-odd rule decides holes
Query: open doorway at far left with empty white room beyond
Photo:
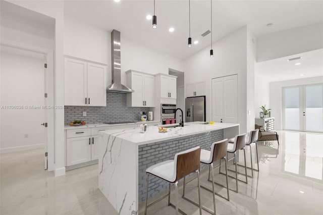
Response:
[{"label": "open doorway at far left with empty white room beyond", "polygon": [[54,166],[52,62],[52,50],[1,45],[1,153],[44,148],[48,171]]}]

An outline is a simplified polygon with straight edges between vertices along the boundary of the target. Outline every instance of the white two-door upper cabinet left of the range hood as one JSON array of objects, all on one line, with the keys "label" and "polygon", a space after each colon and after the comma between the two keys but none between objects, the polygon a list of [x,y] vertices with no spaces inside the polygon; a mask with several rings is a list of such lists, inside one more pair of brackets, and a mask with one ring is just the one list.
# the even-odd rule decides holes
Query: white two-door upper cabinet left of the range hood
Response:
[{"label": "white two-door upper cabinet left of the range hood", "polygon": [[65,105],[105,106],[106,66],[65,58]]}]

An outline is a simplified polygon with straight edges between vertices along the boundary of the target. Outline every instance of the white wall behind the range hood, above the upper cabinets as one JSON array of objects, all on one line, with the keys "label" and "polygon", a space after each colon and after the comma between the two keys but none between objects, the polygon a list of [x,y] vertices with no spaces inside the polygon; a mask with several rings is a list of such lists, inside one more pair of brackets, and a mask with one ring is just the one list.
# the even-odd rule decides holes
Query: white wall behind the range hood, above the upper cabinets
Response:
[{"label": "white wall behind the range hood, above the upper cabinets", "polygon": [[[65,17],[64,54],[108,64],[107,84],[111,83],[111,32]],[[125,71],[127,70],[168,74],[169,68],[183,71],[183,61],[124,38],[121,32],[121,82],[123,84],[126,83]]]}]

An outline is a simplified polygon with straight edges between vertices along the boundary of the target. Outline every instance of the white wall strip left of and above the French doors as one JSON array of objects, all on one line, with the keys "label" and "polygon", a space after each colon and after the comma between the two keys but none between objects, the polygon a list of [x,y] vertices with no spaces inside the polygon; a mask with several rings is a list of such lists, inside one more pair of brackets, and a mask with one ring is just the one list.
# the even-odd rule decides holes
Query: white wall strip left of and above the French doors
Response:
[{"label": "white wall strip left of and above the French doors", "polygon": [[281,130],[283,128],[282,88],[287,86],[297,86],[321,82],[323,82],[323,76],[270,83],[270,108],[272,109],[271,116],[275,117],[275,129]]}]

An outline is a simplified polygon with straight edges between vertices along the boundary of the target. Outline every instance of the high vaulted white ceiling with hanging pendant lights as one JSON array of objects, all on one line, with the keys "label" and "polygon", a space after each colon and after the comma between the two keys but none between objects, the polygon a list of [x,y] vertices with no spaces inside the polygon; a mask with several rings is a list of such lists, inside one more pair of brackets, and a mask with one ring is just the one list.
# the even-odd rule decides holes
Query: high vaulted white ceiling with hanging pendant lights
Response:
[{"label": "high vaulted white ceiling with hanging pendant lights", "polygon": [[[248,25],[254,37],[323,21],[323,1],[212,1],[213,42]],[[188,1],[156,0],[157,29],[146,15],[153,1],[65,1],[65,15],[168,55],[185,59],[210,45],[210,1],[191,0],[191,37],[198,44],[187,47]],[[272,27],[266,24],[273,23]],[[168,29],[174,27],[174,32]]]}]

